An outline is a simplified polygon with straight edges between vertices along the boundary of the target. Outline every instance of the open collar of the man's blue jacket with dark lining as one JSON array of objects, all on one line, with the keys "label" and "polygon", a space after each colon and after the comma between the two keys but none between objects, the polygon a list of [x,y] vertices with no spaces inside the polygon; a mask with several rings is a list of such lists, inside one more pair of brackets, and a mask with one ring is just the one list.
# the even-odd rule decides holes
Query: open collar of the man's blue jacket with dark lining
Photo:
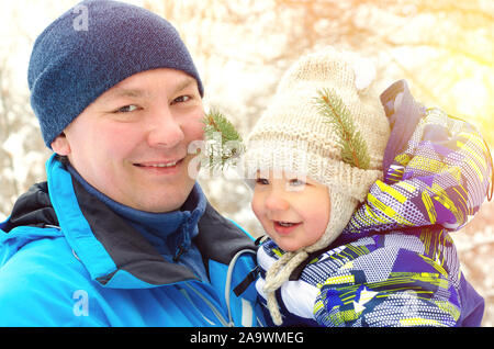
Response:
[{"label": "open collar of the man's blue jacket with dark lining", "polygon": [[[159,252],[108,205],[72,181],[65,167],[52,157],[46,165],[50,203],[75,255],[91,278],[110,288],[153,288],[199,280],[187,267],[165,260]],[[198,223],[194,243],[205,263],[228,263],[254,243],[207,202]]]}]

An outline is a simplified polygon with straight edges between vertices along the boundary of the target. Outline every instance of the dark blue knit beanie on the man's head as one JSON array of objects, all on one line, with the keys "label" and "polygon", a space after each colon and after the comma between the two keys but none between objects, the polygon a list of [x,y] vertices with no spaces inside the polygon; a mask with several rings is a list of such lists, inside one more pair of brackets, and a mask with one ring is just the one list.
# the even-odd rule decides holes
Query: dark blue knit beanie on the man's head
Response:
[{"label": "dark blue knit beanie on the man's head", "polygon": [[190,53],[159,15],[110,0],[82,1],[64,13],[36,38],[27,71],[46,146],[104,91],[156,68],[187,72],[203,95]]}]

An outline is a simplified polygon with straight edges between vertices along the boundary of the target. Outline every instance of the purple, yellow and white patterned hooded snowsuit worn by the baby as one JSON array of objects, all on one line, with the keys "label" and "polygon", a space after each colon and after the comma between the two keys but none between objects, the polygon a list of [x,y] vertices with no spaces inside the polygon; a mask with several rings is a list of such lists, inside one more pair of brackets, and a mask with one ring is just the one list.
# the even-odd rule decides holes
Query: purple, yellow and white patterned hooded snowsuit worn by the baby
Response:
[{"label": "purple, yellow and white patterned hooded snowsuit worn by the baby", "polygon": [[[484,301],[464,279],[449,232],[486,196],[489,148],[469,123],[416,103],[405,81],[381,101],[392,125],[383,180],[338,239],[277,291],[283,325],[480,326]],[[265,271],[282,254],[270,239],[259,248],[261,295]]]}]

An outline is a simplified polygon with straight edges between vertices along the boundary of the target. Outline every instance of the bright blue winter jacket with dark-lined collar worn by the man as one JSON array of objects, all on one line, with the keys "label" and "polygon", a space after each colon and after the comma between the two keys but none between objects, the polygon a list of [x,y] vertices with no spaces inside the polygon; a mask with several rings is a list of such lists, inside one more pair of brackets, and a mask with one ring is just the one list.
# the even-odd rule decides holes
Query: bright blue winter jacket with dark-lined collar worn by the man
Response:
[{"label": "bright blue winter jacket with dark-lined collar worn by the man", "polygon": [[72,181],[55,156],[46,172],[0,223],[0,326],[263,324],[254,284],[233,292],[256,267],[252,239],[209,203],[194,238],[210,279],[202,282]]}]

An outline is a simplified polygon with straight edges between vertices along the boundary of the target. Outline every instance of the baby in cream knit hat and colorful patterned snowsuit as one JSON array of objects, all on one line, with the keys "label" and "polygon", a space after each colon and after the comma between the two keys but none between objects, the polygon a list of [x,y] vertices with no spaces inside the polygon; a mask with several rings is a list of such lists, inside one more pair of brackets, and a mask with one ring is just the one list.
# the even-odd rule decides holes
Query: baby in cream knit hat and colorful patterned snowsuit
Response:
[{"label": "baby in cream knit hat and colorful patterned snowsuit", "polygon": [[404,81],[380,99],[363,63],[333,48],[302,57],[247,139],[269,236],[256,289],[276,325],[479,326],[483,299],[448,230],[483,202],[489,149]]}]

